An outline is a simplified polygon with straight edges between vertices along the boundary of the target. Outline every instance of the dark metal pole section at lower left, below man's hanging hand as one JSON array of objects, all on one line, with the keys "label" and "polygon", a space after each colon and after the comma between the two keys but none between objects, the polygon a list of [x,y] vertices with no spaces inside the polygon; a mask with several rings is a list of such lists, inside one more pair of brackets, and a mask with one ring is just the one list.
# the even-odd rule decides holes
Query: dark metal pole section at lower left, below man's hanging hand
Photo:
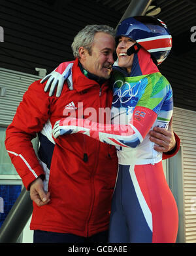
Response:
[{"label": "dark metal pole section at lower left, below man's hanging hand", "polygon": [[0,228],[0,243],[15,243],[31,217],[33,203],[29,191],[23,188]]}]

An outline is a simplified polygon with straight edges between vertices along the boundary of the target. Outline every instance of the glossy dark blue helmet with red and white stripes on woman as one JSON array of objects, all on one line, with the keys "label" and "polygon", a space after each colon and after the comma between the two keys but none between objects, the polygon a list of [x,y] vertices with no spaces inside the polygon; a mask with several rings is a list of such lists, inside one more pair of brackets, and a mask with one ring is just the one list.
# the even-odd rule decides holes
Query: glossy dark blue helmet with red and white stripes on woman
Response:
[{"label": "glossy dark blue helmet with red and white stripes on woman", "polygon": [[116,30],[118,37],[130,37],[148,51],[155,64],[161,64],[171,51],[172,36],[161,20],[151,16],[134,16],[123,20]]}]

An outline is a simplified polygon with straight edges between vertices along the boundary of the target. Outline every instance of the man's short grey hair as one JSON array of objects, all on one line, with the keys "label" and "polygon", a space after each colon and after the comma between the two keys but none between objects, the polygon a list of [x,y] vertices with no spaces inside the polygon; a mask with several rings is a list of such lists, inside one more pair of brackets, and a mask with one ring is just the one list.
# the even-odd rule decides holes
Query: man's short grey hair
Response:
[{"label": "man's short grey hair", "polygon": [[78,32],[78,34],[74,37],[74,41],[71,45],[74,57],[80,58],[78,51],[80,47],[84,47],[88,50],[88,53],[91,54],[91,47],[93,45],[95,33],[97,32],[105,32],[112,35],[112,37],[115,37],[115,30],[110,26],[88,25],[80,30],[80,32]]}]

